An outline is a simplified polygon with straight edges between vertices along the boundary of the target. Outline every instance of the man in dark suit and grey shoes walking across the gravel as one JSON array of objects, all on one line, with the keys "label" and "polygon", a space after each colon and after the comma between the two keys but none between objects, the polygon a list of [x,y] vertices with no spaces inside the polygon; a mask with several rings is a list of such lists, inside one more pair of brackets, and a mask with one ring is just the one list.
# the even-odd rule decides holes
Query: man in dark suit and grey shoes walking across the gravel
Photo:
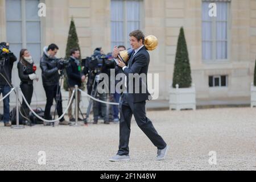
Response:
[{"label": "man in dark suit and grey shoes walking across the gravel", "polygon": [[[131,117],[137,122],[140,129],[147,135],[151,142],[158,148],[156,160],[163,160],[166,157],[168,146],[163,138],[155,130],[150,119],[146,117],[146,100],[150,94],[147,90],[147,72],[150,62],[150,55],[144,46],[144,35],[140,30],[130,33],[130,44],[134,49],[128,65],[117,59],[119,50],[114,47],[113,56],[120,69],[125,74],[125,87],[127,92],[123,92],[119,102],[121,121],[119,125],[119,150],[117,155],[109,160],[112,162],[127,161],[129,157],[129,138]],[[140,75],[144,75],[144,80]],[[133,76],[133,77],[132,77]],[[139,85],[135,80],[139,80]],[[139,88],[139,90],[138,90]]]}]

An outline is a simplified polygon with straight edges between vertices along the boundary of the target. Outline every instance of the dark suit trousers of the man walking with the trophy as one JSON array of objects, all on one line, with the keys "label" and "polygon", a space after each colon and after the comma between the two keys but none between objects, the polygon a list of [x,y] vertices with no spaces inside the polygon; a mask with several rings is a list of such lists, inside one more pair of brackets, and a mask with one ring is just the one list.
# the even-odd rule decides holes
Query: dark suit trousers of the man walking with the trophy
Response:
[{"label": "dark suit trousers of the man walking with the trophy", "polygon": [[146,117],[146,101],[131,103],[127,97],[127,94],[122,94],[119,102],[121,120],[119,123],[119,150],[117,155],[129,155],[129,138],[132,115],[134,115],[139,128],[147,135],[151,142],[158,149],[165,148],[166,142],[164,142],[163,138],[157,133],[150,119]]}]

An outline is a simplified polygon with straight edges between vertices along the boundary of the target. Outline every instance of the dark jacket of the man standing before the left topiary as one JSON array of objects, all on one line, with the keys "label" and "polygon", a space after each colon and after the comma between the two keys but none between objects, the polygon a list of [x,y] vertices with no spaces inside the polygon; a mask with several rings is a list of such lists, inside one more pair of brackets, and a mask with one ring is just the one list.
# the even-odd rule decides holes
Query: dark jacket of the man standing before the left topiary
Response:
[{"label": "dark jacket of the man standing before the left topiary", "polygon": [[79,65],[76,64],[75,59],[69,58],[69,65],[67,68],[68,75],[68,87],[74,87],[75,85],[81,86],[81,72],[79,71]]}]

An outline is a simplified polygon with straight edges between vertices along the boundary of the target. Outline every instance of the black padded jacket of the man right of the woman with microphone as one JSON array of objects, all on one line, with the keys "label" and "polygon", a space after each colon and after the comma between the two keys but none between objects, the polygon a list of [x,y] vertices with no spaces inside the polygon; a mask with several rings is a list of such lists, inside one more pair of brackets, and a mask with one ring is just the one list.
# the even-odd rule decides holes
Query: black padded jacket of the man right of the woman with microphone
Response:
[{"label": "black padded jacket of the man right of the woman with microphone", "polygon": [[42,80],[44,86],[59,84],[59,73],[57,68],[56,57],[50,57],[47,53],[47,47],[44,48],[43,56],[40,60],[40,68],[42,69]]}]

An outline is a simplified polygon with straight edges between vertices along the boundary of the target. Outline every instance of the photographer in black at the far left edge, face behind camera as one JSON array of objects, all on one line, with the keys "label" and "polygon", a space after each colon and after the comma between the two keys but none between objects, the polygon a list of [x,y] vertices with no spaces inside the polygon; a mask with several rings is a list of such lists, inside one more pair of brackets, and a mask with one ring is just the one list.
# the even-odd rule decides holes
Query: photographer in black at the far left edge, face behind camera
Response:
[{"label": "photographer in black at the far left edge, face behind camera", "polygon": [[[13,63],[17,60],[13,52],[9,51],[9,44],[0,43],[0,95],[6,96],[11,91],[11,71]],[[5,126],[11,126],[10,119],[10,98],[3,100],[3,122]]]}]

